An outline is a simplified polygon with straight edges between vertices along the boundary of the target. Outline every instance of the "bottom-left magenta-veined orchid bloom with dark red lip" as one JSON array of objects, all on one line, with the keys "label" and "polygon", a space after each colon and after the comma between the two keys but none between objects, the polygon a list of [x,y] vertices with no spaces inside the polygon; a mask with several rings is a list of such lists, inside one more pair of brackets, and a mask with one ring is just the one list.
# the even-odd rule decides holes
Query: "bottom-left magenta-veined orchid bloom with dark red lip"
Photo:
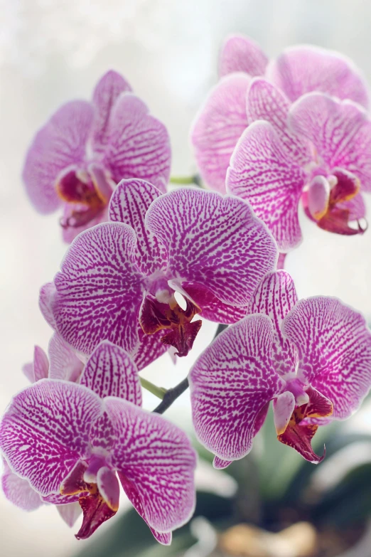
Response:
[{"label": "bottom-left magenta-veined orchid bloom with dark red lip", "polygon": [[156,540],[168,545],[193,514],[195,451],[181,429],[140,407],[137,368],[107,341],[80,384],[48,378],[21,391],[0,426],[8,494],[27,509],[38,499],[78,502],[84,516],[76,537],[86,539],[116,514],[120,481]]}]

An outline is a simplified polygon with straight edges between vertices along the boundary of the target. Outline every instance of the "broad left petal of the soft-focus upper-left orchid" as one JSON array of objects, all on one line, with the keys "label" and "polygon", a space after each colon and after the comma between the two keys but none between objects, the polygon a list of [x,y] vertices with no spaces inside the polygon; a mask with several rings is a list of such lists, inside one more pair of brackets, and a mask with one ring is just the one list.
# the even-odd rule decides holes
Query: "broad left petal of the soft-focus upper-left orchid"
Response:
[{"label": "broad left petal of the soft-focus upper-left orchid", "polygon": [[60,171],[84,161],[92,120],[89,102],[68,102],[33,139],[22,176],[28,197],[40,213],[52,213],[60,206],[55,182]]}]

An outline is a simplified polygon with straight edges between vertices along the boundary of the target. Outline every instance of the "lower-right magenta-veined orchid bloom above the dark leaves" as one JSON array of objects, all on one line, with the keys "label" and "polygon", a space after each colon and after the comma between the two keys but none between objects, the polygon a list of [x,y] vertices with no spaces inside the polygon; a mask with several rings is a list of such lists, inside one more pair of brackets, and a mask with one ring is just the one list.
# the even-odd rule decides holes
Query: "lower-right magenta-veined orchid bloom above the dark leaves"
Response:
[{"label": "lower-right magenta-veined orchid bloom above the dark leaves", "polygon": [[269,273],[248,315],[217,336],[190,371],[193,423],[224,468],[251,450],[273,400],[279,441],[318,463],[318,425],[344,420],[371,386],[371,331],[331,297],[298,302],[290,275]]}]

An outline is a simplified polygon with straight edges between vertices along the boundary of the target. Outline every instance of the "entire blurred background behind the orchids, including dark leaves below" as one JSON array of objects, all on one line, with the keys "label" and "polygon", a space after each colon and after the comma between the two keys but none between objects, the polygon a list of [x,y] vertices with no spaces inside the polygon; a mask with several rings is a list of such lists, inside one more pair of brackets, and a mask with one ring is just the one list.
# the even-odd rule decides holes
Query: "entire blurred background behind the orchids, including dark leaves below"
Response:
[{"label": "entire blurred background behind the orchids, including dark leaves below", "polygon": [[[0,0],[0,410],[26,386],[21,366],[51,331],[38,290],[53,278],[65,245],[58,216],[38,216],[21,184],[23,157],[36,129],[73,98],[89,99],[108,69],[122,73],[167,125],[172,174],[196,171],[190,123],[217,80],[227,33],[261,43],[269,56],[313,43],[353,58],[371,83],[371,4],[366,0]],[[371,196],[368,201],[371,211]],[[342,238],[302,218],[304,242],[286,260],[299,297],[335,295],[371,321],[371,231]],[[165,355],[144,376],[166,388],[188,373],[216,325],[204,322],[190,355]],[[145,406],[157,399],[146,394]],[[168,417],[190,425],[188,393]],[[53,506],[26,513],[0,494],[4,557],[368,557],[371,533],[371,405],[316,435],[326,460],[315,467],[275,440],[267,420],[247,458],[216,472],[200,449],[197,518],[171,548],[122,497],[117,516],[93,539],[77,542]]]}]

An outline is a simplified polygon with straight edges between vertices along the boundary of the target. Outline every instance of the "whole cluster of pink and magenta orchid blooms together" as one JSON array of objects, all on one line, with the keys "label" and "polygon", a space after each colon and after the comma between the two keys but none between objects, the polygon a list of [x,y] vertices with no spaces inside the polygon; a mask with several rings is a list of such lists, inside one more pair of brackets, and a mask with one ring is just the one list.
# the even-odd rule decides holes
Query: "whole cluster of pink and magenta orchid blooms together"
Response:
[{"label": "whole cluster of pink and magenta orchid blooms together", "polygon": [[242,36],[226,41],[220,76],[192,132],[216,191],[166,191],[166,128],[114,72],[91,103],[61,107],[26,157],[28,196],[41,213],[63,208],[70,246],[40,292],[48,356],[36,346],[32,384],[1,421],[2,487],[22,509],[55,504],[70,526],[82,512],[77,539],[116,514],[120,484],[160,543],[192,516],[195,451],[141,408],[139,371],[170,346],[187,356],[196,316],[229,325],[188,377],[216,468],[247,455],[271,402],[278,440],[321,462],[318,427],[370,390],[362,315],[333,297],[299,300],[277,270],[301,241],[299,201],[324,230],[364,232],[365,84],[336,53],[299,46],[269,62]]}]

